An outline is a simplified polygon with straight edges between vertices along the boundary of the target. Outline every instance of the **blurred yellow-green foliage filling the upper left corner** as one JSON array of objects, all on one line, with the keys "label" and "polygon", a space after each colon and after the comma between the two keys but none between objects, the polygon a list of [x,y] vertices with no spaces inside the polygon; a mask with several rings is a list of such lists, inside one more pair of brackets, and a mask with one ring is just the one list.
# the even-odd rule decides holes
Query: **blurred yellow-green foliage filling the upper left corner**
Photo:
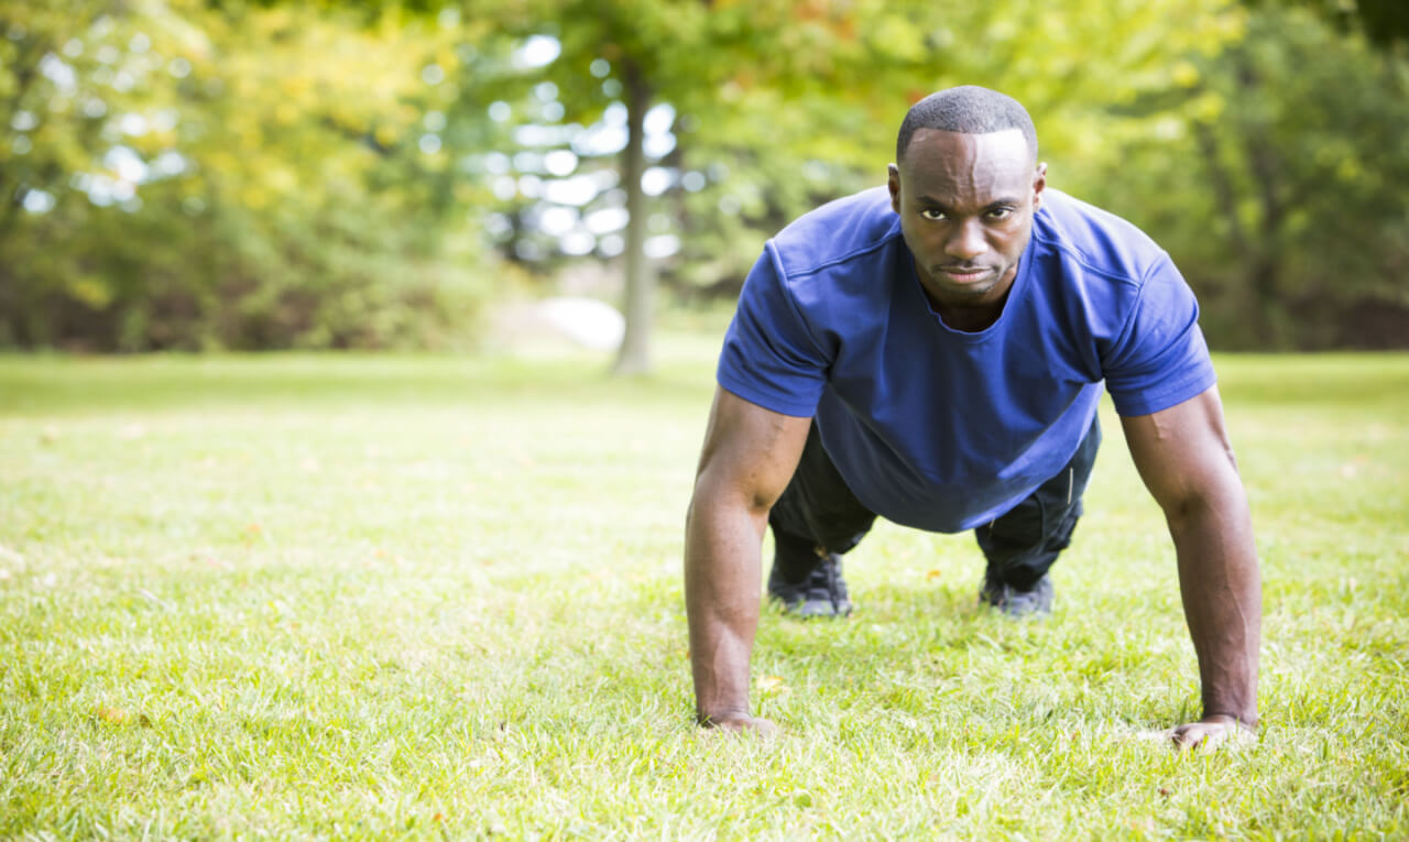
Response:
[{"label": "blurred yellow-green foliage filling the upper left corner", "polygon": [[473,341],[475,193],[417,146],[447,34],[80,0],[0,32],[0,345]]}]

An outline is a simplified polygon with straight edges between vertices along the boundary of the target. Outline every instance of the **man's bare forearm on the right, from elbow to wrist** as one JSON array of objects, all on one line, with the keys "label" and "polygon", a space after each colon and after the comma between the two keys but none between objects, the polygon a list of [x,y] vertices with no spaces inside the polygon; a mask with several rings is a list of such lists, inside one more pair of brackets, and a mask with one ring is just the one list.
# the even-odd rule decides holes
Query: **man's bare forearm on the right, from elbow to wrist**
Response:
[{"label": "man's bare forearm on the right, from elbow to wrist", "polygon": [[1257,548],[1241,483],[1169,518],[1184,614],[1199,658],[1203,717],[1257,725],[1262,605]]}]

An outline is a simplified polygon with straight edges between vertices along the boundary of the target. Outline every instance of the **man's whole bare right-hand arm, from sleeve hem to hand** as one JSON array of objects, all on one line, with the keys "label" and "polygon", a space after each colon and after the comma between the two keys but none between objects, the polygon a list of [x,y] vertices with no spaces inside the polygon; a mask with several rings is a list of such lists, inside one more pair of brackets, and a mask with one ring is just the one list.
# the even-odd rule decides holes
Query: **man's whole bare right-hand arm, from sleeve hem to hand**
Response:
[{"label": "man's whole bare right-hand arm, from sleeve hem to hand", "polygon": [[1262,622],[1253,522],[1216,387],[1182,404],[1122,418],[1146,487],[1164,510],[1179,563],[1184,615],[1203,684],[1203,720],[1175,728],[1179,746],[1215,745],[1257,727]]}]

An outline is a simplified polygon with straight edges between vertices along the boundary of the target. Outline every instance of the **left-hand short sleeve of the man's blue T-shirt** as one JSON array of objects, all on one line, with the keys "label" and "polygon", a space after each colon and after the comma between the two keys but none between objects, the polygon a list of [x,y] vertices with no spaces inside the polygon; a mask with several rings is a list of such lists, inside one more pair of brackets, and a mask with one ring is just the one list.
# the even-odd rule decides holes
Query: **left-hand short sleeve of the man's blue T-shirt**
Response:
[{"label": "left-hand short sleeve of the man's blue T-shirt", "polygon": [[782,279],[774,244],[744,280],[719,356],[719,384],[765,410],[806,418],[817,410],[830,360]]}]

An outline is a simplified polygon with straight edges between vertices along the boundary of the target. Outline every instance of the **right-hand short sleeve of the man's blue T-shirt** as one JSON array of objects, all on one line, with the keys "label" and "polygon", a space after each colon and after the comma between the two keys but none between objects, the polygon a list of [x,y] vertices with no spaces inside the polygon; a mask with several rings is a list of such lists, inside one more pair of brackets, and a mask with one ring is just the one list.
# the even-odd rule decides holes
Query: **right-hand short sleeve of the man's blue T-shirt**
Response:
[{"label": "right-hand short sleeve of the man's blue T-shirt", "polygon": [[1143,279],[1102,367],[1116,411],[1126,417],[1167,410],[1217,380],[1199,329],[1199,304],[1168,255]]}]

